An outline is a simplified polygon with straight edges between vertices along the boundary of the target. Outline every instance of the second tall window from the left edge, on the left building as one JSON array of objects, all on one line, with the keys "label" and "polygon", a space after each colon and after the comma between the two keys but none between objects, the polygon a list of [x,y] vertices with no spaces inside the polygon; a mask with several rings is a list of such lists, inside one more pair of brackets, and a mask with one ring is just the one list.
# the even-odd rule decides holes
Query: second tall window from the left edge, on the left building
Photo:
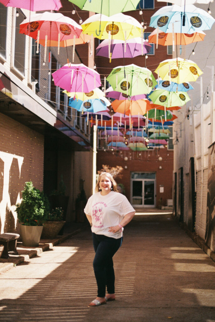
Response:
[{"label": "second tall window from the left edge, on the left building", "polygon": [[25,15],[17,8],[19,16],[16,16],[15,24],[15,45],[14,45],[14,67],[22,74],[25,74],[25,35],[19,33],[21,22],[26,18]]}]

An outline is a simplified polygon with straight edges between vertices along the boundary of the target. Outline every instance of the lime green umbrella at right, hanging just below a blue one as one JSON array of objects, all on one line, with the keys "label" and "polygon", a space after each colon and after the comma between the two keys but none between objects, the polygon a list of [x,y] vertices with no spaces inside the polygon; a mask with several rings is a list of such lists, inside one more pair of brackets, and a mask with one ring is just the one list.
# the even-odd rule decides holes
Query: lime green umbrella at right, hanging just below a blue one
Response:
[{"label": "lime green umbrella at right, hanging just below a blue one", "polygon": [[166,107],[183,106],[190,100],[186,92],[169,92],[168,90],[155,90],[149,97],[154,104]]}]

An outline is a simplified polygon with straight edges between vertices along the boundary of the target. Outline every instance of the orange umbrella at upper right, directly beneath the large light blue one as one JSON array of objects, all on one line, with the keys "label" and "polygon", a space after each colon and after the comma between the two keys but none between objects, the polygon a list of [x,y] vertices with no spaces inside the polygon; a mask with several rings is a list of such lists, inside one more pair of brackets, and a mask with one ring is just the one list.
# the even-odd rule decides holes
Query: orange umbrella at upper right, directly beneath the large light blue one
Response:
[{"label": "orange umbrella at upper right, directly beneath the large light blue one", "polygon": [[[158,41],[157,41],[158,32]],[[195,33],[164,33],[163,31],[154,30],[148,37],[150,43],[158,43],[162,46],[169,46],[174,43],[176,45],[188,45],[189,43],[195,43],[197,41],[204,40],[205,33],[198,31]]]}]

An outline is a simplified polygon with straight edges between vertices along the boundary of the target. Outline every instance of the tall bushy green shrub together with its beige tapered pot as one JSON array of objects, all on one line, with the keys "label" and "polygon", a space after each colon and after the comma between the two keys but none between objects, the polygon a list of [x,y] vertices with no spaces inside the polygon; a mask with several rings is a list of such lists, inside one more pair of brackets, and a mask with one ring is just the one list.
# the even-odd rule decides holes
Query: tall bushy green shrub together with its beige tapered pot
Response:
[{"label": "tall bushy green shrub together with its beige tapered pot", "polygon": [[21,223],[23,246],[38,246],[43,224],[49,213],[47,196],[36,189],[32,182],[26,182],[22,191],[22,201],[16,204],[17,219]]}]

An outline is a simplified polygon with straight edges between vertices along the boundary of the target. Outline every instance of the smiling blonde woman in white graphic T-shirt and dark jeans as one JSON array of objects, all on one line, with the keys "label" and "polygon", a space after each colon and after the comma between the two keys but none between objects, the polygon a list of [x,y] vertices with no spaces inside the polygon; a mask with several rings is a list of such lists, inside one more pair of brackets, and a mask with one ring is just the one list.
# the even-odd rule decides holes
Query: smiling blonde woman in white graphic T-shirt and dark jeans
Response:
[{"label": "smiling blonde woman in white graphic T-shirt and dark jeans", "polygon": [[[93,269],[98,286],[97,298],[89,306],[99,306],[115,300],[113,256],[122,244],[123,227],[129,223],[135,210],[127,198],[118,193],[111,174],[103,172],[84,209],[90,222],[93,246],[96,252]],[[107,295],[105,296],[107,286]]]}]

